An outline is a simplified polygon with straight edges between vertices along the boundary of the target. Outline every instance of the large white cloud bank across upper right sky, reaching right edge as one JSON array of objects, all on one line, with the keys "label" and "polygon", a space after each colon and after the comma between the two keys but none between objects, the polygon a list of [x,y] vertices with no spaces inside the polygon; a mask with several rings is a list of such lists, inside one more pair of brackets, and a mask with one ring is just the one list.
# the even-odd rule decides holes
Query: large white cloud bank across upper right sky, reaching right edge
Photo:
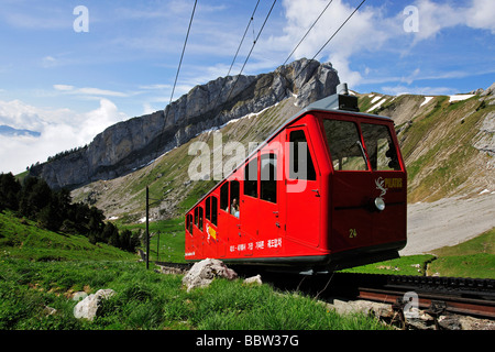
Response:
[{"label": "large white cloud bank across upper right sky, reaching right edge", "polygon": [[[295,45],[304,33],[314,23],[317,16],[327,6],[324,0],[289,1],[285,0],[286,24],[284,35],[272,40],[279,45]],[[411,48],[419,42],[435,38],[441,31],[459,25],[473,29],[490,30],[495,34],[495,1],[472,0],[466,4],[454,4],[449,1],[416,0],[405,3],[418,8],[419,31],[407,33],[404,30],[404,21],[407,15],[400,9],[397,13],[387,14],[386,7],[364,6],[342,30],[330,41],[317,59],[330,61],[338,70],[341,81],[346,81],[350,87],[359,86],[364,80],[377,79],[370,77],[370,67],[352,67],[353,58],[358,55],[380,53],[384,51],[391,55],[410,56]],[[356,3],[350,4],[343,0],[333,0],[319,22],[311,30],[306,40],[297,48],[294,56],[314,57],[318,50],[330,38],[343,21],[354,11]],[[280,44],[282,43],[282,44]],[[292,48],[287,50],[288,52]],[[383,73],[388,68],[383,67]],[[363,78],[365,76],[365,79]],[[375,72],[376,76],[380,73]],[[387,74],[389,75],[389,74]],[[427,70],[413,69],[409,76],[398,77],[398,81],[411,85],[417,79],[425,79],[425,75],[431,76]],[[428,89],[428,88],[427,88]]]}]

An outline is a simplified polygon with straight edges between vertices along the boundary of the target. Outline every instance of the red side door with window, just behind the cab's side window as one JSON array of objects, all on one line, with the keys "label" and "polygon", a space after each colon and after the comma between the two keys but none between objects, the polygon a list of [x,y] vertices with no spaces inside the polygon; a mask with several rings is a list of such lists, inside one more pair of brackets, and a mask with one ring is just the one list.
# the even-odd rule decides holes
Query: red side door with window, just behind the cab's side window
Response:
[{"label": "red side door with window, just behind the cab's side window", "polygon": [[278,253],[282,248],[277,154],[272,150],[260,156],[258,237],[266,253]]}]

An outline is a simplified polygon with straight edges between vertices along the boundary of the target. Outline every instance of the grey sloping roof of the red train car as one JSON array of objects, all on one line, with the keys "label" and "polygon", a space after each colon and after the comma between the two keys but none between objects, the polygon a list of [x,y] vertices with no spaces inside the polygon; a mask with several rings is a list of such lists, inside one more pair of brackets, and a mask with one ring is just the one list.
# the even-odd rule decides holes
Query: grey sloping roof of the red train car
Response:
[{"label": "grey sloping roof of the red train car", "polygon": [[217,186],[221,183],[223,183],[227,178],[229,178],[232,174],[234,174],[239,167],[244,165],[254,154],[256,154],[261,148],[263,148],[272,139],[274,139],[280,131],[283,131],[288,124],[292,122],[298,120],[299,118],[304,117],[306,113],[310,111],[323,111],[323,112],[338,112],[342,114],[350,114],[350,116],[359,116],[359,117],[366,117],[366,118],[373,118],[373,119],[380,119],[385,121],[393,121],[388,117],[382,117],[377,114],[371,114],[371,113],[364,113],[360,112],[358,108],[358,97],[350,96],[350,95],[340,95],[336,94],[332,96],[328,96],[327,98],[317,100],[306,108],[299,110],[296,114],[287,119],[275,132],[273,132],[266,140],[264,140],[260,145],[252,151],[245,160],[240,163],[226,177],[223,177],[222,180],[220,180],[217,185],[213,186],[209,191],[207,191],[193,207],[190,207],[186,212],[189,212],[191,209],[194,209],[199,202],[201,202]]}]

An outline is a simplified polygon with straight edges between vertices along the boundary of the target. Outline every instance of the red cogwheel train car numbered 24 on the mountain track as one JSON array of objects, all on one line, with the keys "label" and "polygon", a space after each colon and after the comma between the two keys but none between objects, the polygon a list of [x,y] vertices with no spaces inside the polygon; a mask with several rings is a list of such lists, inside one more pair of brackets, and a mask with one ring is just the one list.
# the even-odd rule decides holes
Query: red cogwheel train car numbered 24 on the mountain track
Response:
[{"label": "red cogwheel train car numbered 24 on the mountain track", "polygon": [[406,207],[394,122],[334,95],[288,119],[187,211],[185,258],[321,272],[398,257]]}]

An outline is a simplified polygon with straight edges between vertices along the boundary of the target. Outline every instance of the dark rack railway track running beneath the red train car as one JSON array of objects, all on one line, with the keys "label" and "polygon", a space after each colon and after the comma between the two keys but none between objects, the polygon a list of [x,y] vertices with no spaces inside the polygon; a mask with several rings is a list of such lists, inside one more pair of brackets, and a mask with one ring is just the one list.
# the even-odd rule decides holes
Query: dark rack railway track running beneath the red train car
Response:
[{"label": "dark rack railway track running beneath the red train car", "polygon": [[[183,271],[191,267],[186,263],[156,264]],[[257,273],[254,270],[241,276]],[[385,302],[400,314],[409,306],[427,311],[435,319],[450,312],[495,320],[495,279],[351,273],[302,276],[270,272],[262,277],[278,289],[299,290],[320,299],[342,297]]]}]

